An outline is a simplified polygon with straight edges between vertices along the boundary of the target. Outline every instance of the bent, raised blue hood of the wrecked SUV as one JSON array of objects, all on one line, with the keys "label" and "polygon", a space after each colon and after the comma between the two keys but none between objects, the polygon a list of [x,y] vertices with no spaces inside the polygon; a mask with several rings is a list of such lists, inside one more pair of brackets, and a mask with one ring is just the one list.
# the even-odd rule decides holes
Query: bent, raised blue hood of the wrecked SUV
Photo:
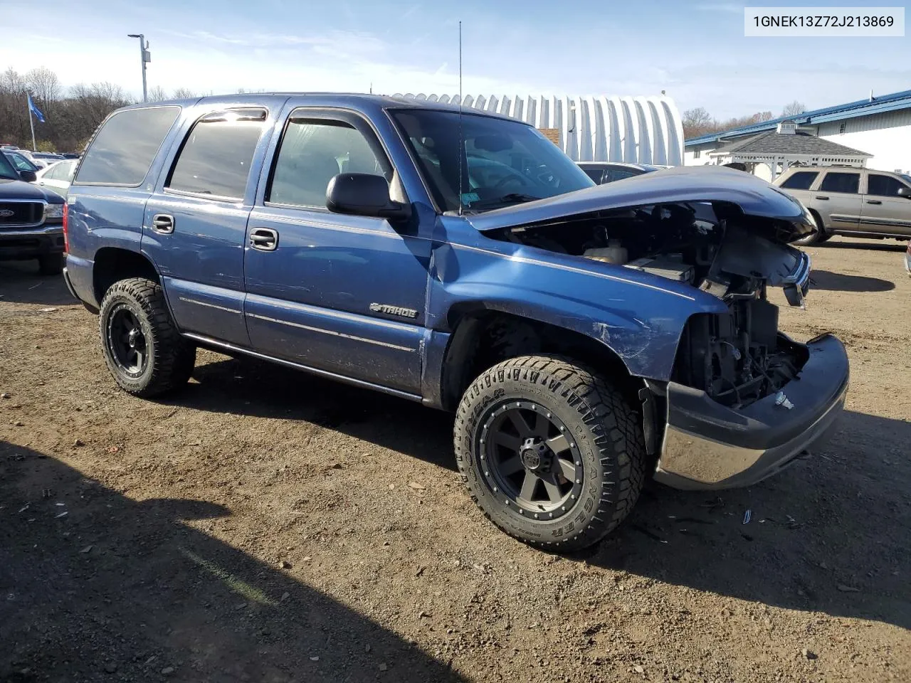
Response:
[{"label": "bent, raised blue hood of the wrecked SUV", "polygon": [[773,232],[782,241],[798,240],[815,230],[812,216],[797,199],[762,178],[719,166],[667,168],[467,218],[483,232],[604,210],[683,202],[734,205],[746,216],[771,219]]}]

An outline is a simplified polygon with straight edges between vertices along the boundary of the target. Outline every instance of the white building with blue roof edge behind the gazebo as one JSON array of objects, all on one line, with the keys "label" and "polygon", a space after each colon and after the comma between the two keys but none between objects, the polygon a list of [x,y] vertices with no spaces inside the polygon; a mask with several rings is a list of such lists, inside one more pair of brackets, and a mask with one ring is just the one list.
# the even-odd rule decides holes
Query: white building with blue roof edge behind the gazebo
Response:
[{"label": "white building with blue roof edge behind the gazebo", "polygon": [[[691,138],[685,144],[684,163],[687,166],[723,163],[723,155],[717,152],[733,142],[774,131],[785,122],[793,122],[801,132],[812,133],[823,140],[863,150],[867,156],[866,168],[903,173],[911,171],[911,90]],[[844,160],[810,165],[834,164],[851,165]],[[755,173],[763,177],[773,176],[772,169],[763,168],[762,164],[758,165]]]}]

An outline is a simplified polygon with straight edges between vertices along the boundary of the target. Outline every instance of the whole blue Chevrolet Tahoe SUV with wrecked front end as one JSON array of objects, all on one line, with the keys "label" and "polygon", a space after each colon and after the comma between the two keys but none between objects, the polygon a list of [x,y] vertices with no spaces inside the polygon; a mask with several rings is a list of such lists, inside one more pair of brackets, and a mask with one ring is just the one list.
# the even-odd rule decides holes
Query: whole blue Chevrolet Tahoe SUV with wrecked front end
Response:
[{"label": "whole blue Chevrolet Tahoe SUV with wrecked front end", "polygon": [[[727,168],[595,186],[535,128],[351,95],[118,110],[67,196],[66,279],[125,391],[197,347],[455,412],[486,515],[574,549],[646,476],[754,484],[842,411],[848,362],[778,330],[803,206]],[[305,395],[305,394],[302,394]]]}]

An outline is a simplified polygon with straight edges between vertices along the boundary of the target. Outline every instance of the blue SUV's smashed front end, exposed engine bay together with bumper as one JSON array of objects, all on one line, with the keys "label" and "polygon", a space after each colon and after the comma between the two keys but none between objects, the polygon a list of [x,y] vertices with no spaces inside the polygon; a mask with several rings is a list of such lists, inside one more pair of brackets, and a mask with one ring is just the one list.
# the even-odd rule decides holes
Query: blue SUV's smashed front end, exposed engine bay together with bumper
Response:
[{"label": "blue SUV's smashed front end, exposed engine bay together with bumper", "polygon": [[[632,189],[640,179],[627,182]],[[775,474],[820,443],[844,408],[842,343],[828,334],[794,342],[767,298],[769,288],[782,288],[790,305],[804,306],[810,260],[788,242],[812,229],[799,204],[785,215],[751,215],[728,198],[708,198],[555,216],[487,236],[607,261],[614,272],[639,270],[725,303],[725,313],[689,317],[670,381],[646,378],[656,479],[714,489]],[[649,413],[657,416],[652,429]]]}]

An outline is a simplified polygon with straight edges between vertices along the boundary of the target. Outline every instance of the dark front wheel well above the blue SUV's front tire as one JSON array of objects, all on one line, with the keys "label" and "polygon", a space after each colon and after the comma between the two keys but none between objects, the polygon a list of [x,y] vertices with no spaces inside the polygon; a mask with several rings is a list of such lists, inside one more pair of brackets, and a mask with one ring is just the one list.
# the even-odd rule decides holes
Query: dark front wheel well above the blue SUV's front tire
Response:
[{"label": "dark front wheel well above the blue SUV's front tire", "polygon": [[644,383],[630,375],[615,352],[580,332],[499,311],[466,312],[454,328],[443,362],[445,410],[455,410],[468,385],[487,368],[536,353],[556,353],[582,362],[615,382],[630,405],[641,404],[639,390]]}]

